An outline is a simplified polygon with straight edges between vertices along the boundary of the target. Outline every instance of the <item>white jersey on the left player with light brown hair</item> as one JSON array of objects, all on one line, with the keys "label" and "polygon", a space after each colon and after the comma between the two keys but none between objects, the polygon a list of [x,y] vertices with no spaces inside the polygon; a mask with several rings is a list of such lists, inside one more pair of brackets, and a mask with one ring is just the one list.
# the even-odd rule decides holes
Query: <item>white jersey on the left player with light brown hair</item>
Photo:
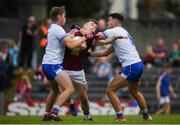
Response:
[{"label": "white jersey on the left player with light brown hair", "polygon": [[46,51],[42,64],[61,64],[63,63],[65,45],[64,38],[67,36],[64,29],[57,25],[51,24],[48,29]]}]

